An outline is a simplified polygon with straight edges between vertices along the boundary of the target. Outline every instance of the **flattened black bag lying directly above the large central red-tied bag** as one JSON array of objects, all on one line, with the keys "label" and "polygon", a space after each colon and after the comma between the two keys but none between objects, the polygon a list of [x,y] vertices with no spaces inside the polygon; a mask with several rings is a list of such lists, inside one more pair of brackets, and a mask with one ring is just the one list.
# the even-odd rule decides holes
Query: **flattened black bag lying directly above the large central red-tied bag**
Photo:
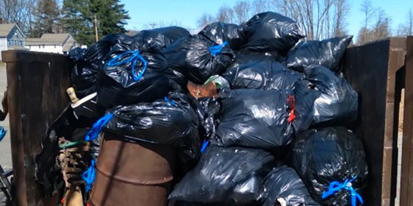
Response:
[{"label": "flattened black bag lying directly above the large central red-tied bag", "polygon": [[275,60],[256,60],[233,67],[222,77],[231,89],[293,89],[295,82],[304,79],[302,73],[286,69]]}]

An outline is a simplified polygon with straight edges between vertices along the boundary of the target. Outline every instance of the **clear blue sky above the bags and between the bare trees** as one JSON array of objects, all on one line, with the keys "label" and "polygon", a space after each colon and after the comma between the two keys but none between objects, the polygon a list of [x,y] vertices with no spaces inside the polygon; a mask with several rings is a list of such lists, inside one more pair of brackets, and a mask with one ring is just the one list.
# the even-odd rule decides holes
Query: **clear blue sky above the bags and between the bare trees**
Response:
[{"label": "clear blue sky above the bags and between the bare trees", "polygon": [[[233,6],[237,0],[121,0],[125,9],[129,11],[131,19],[128,30],[142,30],[149,28],[149,23],[180,25],[185,28],[196,29],[196,20],[204,13],[213,14],[221,5]],[[361,0],[348,0],[351,5],[348,15],[348,31],[356,35],[363,19],[360,10]],[[404,23],[407,11],[413,8],[413,0],[372,0],[375,8],[381,8],[392,17],[393,32],[396,32],[400,23]]]}]

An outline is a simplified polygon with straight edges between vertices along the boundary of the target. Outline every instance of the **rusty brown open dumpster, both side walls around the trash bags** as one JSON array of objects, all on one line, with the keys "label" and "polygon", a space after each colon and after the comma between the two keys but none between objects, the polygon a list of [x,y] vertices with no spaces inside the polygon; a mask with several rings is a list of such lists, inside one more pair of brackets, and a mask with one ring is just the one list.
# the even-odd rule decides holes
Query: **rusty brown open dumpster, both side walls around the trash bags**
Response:
[{"label": "rusty brown open dumpster, both side walls around the trash bags", "polygon": [[[14,50],[2,52],[2,57],[8,77],[13,201],[16,205],[57,205],[61,194],[45,197],[36,183],[34,160],[45,130],[70,102],[65,89],[70,86],[71,61],[59,54]],[[394,205],[398,201],[403,206],[413,205],[413,82],[408,81],[413,77],[413,36],[350,47],[340,69],[359,93],[359,119],[351,128],[361,137],[369,163],[365,205]],[[405,106],[400,157],[397,130],[402,89]],[[401,171],[398,159],[402,159]]]}]

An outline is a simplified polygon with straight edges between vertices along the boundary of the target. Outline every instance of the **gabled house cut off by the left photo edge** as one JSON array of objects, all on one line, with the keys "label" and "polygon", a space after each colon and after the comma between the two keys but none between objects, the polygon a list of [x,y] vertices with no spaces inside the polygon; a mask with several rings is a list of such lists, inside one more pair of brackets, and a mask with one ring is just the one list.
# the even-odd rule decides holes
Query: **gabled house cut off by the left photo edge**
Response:
[{"label": "gabled house cut off by the left photo edge", "polygon": [[25,35],[14,23],[0,23],[0,60],[1,51],[25,49]]}]

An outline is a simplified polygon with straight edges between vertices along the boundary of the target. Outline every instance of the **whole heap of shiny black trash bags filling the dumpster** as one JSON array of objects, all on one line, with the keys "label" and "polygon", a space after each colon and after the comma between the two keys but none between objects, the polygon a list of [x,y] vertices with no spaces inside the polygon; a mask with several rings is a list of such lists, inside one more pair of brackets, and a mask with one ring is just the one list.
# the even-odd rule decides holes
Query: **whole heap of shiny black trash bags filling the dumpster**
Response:
[{"label": "whole heap of shiny black trash bags filling the dumpster", "polygon": [[[95,101],[84,141],[113,133],[128,144],[171,146],[170,204],[362,205],[368,163],[346,128],[357,119],[358,94],[338,73],[352,36],[304,37],[293,19],[264,12],[199,34],[163,27],[73,49],[81,103],[71,105]],[[58,185],[45,178],[50,170],[38,171],[40,183]]]}]

